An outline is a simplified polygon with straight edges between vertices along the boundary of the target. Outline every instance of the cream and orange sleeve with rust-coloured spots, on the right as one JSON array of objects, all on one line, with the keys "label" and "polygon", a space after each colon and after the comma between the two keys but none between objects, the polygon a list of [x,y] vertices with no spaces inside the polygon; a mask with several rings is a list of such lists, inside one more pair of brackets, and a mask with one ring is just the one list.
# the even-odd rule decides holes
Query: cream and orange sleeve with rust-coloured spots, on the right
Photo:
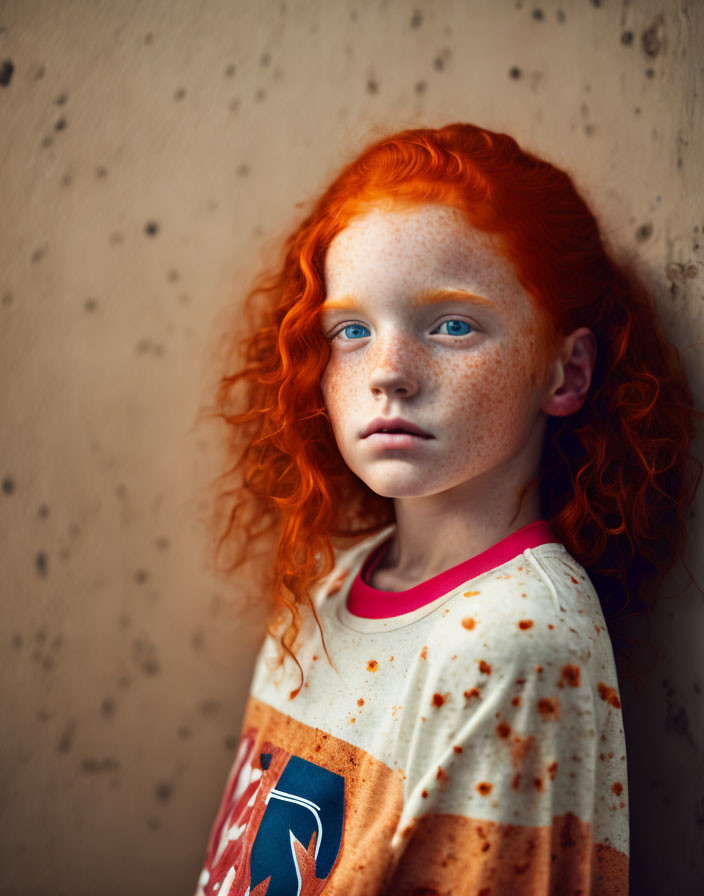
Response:
[{"label": "cream and orange sleeve with rust-coloured spots, on the right", "polygon": [[464,657],[464,705],[408,794],[389,896],[628,892],[613,654],[574,600],[561,594],[556,612],[509,606],[484,656]]}]

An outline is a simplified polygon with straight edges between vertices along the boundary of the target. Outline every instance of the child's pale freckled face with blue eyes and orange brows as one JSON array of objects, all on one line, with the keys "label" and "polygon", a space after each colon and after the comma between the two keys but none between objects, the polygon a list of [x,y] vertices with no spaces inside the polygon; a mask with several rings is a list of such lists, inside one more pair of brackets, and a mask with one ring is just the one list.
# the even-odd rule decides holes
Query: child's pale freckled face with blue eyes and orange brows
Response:
[{"label": "child's pale freckled face with blue eyes and orange brows", "polygon": [[[373,491],[422,497],[537,472],[540,317],[490,236],[448,206],[376,207],[332,241],[325,287],[323,397],[345,462]],[[377,417],[432,438],[363,437]]]}]

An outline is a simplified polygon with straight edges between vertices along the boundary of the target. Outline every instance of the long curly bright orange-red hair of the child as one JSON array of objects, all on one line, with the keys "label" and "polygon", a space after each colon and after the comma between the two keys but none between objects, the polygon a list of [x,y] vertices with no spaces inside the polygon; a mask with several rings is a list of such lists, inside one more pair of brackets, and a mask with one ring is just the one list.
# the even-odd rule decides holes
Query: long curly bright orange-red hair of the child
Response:
[{"label": "long curly bright orange-red hair of the child", "polygon": [[[684,548],[702,472],[689,446],[704,415],[652,300],[606,252],[570,177],[510,136],[471,124],[406,130],[365,149],[247,296],[250,330],[239,340],[225,334],[231,372],[219,379],[213,411],[229,434],[213,515],[216,559],[239,542],[231,572],[258,538],[278,536],[266,585],[274,608],[290,614],[280,640],[296,660],[300,608],[318,621],[311,595],[334,567],[334,548],[394,521],[393,500],[342,459],[320,388],[329,355],[318,321],[325,254],[355,214],[381,200],[462,209],[472,226],[499,237],[549,322],[547,343],[581,326],[593,331],[586,402],[549,418],[540,473],[521,499],[539,488],[543,516],[587,570],[607,619],[631,598],[651,604]],[[243,363],[232,371],[236,348]],[[269,631],[283,619],[277,613]]]}]

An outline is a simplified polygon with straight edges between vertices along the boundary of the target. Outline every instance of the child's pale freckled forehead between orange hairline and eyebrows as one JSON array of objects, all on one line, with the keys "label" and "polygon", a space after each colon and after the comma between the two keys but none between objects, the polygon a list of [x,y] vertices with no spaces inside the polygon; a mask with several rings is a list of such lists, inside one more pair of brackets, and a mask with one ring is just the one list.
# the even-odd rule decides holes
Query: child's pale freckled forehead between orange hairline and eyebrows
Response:
[{"label": "child's pale freckled forehead between orange hairline and eyebrows", "polygon": [[365,301],[432,288],[469,290],[512,311],[535,314],[496,236],[451,206],[372,206],[332,240],[325,259],[327,298]]}]

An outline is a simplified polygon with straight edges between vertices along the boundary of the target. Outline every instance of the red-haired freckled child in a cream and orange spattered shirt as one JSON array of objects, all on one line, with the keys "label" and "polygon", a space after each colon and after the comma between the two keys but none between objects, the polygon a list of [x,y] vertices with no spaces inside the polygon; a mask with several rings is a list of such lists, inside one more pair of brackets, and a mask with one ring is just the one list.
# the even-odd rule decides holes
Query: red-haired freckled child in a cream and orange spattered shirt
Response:
[{"label": "red-haired freckled child in a cream and orange spattered shirt", "polygon": [[627,893],[602,604],[657,591],[697,484],[652,304],[468,124],[367,148],[249,302],[221,543],[278,537],[274,612],[198,896]]}]

